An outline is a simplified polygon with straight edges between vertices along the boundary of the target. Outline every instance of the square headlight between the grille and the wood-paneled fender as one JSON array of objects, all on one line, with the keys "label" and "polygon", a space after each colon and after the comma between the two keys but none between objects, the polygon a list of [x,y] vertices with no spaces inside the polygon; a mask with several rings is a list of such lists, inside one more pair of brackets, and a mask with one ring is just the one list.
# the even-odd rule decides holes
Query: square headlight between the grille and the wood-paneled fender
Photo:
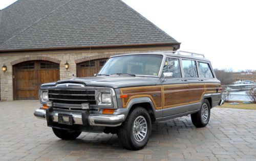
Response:
[{"label": "square headlight between the grille and the wood-paneled fender", "polygon": [[97,91],[98,105],[112,105],[112,93],[111,91],[102,90]]}]

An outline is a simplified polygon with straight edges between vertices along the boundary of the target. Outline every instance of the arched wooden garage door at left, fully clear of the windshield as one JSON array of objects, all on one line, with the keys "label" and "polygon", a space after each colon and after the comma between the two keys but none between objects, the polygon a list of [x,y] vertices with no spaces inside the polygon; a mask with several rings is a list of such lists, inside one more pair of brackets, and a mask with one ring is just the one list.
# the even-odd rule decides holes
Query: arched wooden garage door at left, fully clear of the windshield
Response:
[{"label": "arched wooden garage door at left, fully clear of the windshield", "polygon": [[17,64],[14,73],[14,99],[38,99],[41,84],[59,80],[59,64],[28,61]]}]

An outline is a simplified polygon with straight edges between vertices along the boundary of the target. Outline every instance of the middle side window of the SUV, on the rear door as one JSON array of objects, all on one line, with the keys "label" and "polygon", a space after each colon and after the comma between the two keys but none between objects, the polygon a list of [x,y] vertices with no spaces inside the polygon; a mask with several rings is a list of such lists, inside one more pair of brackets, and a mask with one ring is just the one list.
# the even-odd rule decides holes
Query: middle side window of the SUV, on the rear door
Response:
[{"label": "middle side window of the SUV, on the rear door", "polygon": [[196,61],[182,60],[184,77],[198,77]]}]

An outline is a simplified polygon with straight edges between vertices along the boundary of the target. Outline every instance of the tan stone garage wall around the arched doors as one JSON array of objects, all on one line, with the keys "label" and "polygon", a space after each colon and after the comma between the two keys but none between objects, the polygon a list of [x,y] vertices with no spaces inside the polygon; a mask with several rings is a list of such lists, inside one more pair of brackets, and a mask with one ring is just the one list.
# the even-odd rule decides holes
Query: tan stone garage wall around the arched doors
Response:
[{"label": "tan stone garage wall around the arched doors", "polygon": [[[0,53],[0,84],[1,100],[13,100],[13,71],[12,66],[29,60],[48,60],[60,64],[60,79],[76,77],[76,63],[83,61],[106,58],[122,53],[137,53],[148,51],[173,50],[172,47],[144,47],[144,48],[118,48],[118,49],[93,49],[93,50],[48,50],[29,52],[8,52]],[[104,56],[102,56],[104,55]],[[70,67],[65,68],[68,61]],[[3,72],[2,66],[7,66]]]}]

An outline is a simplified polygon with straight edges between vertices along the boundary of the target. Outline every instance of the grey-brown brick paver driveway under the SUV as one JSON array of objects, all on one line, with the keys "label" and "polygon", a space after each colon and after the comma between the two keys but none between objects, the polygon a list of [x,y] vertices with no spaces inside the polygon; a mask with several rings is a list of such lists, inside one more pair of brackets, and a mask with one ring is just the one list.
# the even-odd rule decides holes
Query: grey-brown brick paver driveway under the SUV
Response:
[{"label": "grey-brown brick paver driveway under the SUV", "polygon": [[153,125],[143,150],[123,149],[116,135],[82,132],[75,141],[54,136],[33,112],[38,101],[0,102],[0,160],[256,160],[256,111],[212,109],[209,124],[190,117]]}]

